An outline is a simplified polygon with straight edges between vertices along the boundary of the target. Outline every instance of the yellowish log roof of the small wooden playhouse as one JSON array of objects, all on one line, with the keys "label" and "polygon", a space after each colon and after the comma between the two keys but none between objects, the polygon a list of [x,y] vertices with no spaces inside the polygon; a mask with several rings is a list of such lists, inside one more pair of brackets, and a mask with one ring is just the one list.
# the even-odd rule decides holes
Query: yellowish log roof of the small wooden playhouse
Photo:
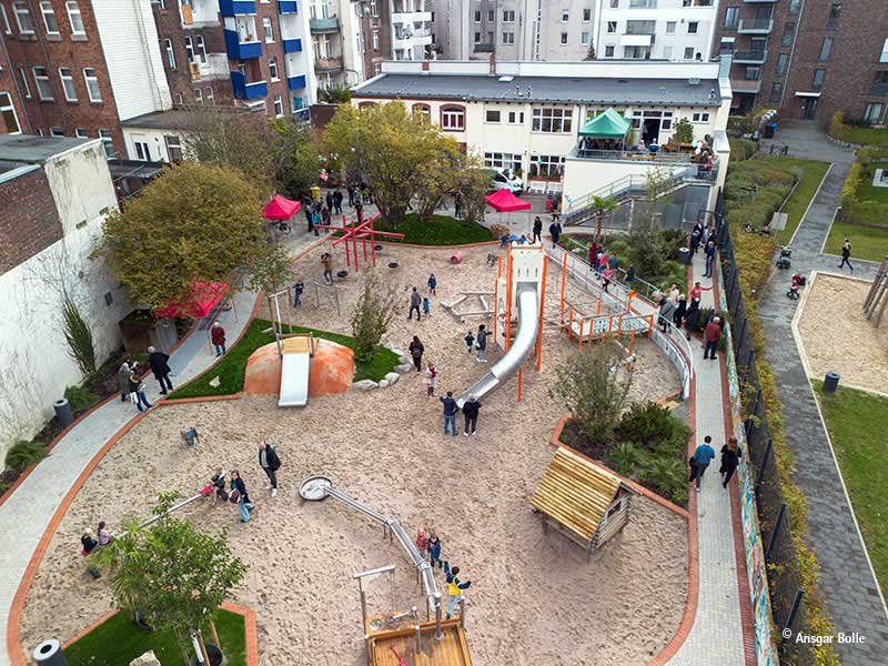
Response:
[{"label": "yellowish log roof of the small wooden playhouse", "polygon": [[559,447],[533,496],[534,508],[583,541],[592,541],[622,482],[577,453]]}]

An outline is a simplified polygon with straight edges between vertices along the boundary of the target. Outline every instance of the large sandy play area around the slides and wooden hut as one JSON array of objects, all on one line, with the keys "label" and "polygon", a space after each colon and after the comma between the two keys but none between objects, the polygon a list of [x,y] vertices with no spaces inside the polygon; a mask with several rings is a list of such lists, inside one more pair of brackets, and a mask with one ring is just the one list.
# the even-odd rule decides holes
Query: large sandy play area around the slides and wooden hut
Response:
[{"label": "large sandy play area around the slides and wooden hut", "polygon": [[[395,274],[405,285],[424,284],[434,270],[438,299],[450,299],[460,289],[492,284],[495,269],[484,268],[486,252],[466,252],[462,266],[450,266],[442,251],[389,254],[402,262]],[[302,260],[310,266],[306,284],[316,264],[317,254]],[[343,301],[353,300],[355,285],[343,290]],[[347,332],[347,310],[343,303],[337,317],[335,307],[306,306],[295,321]],[[464,353],[464,329],[436,306],[420,323],[400,317],[391,340],[405,345],[418,334],[441,365],[441,389],[458,391],[487,367]],[[395,515],[410,534],[420,525],[438,529],[444,557],[473,582],[466,630],[477,666],[645,663],[668,643],[684,612],[684,522],[639,498],[630,524],[587,563],[575,544],[544,535],[531,512],[531,495],[554,453],[547,440],[563,411],[549,396],[553,369],[572,352],[555,331],[547,333],[543,372],[524,373],[524,402],[515,402],[512,381],[485,401],[473,438],[443,436],[441,405],[425,397],[414,374],[385,390],[316,398],[303,411],[282,411],[275,400],[253,396],[151,413],[101,462],[51,541],[27,598],[26,652],[46,636],[73,635],[110,608],[104,581],[91,581],[79,555],[84,526],[145,516],[158,491],[190,495],[220,464],[241,468],[258,507],[254,519],[243,525],[233,505],[213,507],[209,501],[182,513],[209,531],[229,528],[233,552],[250,564],[233,601],[258,610],[263,665],[364,662],[355,572],[397,567],[394,602],[389,584],[380,582],[371,613],[423,607],[406,556],[383,539],[379,526],[332,500],[301,503],[299,482],[319,473]],[[672,365],[653,345],[640,344],[635,396],[658,397],[678,387]],[[191,425],[202,443],[186,451],[179,432]],[[260,432],[278,443],[283,461],[273,500],[256,463]]]}]

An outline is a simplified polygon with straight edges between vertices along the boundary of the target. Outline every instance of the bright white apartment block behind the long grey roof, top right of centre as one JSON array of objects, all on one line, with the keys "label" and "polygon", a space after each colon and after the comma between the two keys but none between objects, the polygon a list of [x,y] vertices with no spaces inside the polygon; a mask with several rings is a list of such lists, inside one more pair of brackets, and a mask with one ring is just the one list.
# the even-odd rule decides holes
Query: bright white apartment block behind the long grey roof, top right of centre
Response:
[{"label": "bright white apartment block behind the long grey roof, top right of centre", "polygon": [[598,0],[598,58],[708,60],[718,0]]}]

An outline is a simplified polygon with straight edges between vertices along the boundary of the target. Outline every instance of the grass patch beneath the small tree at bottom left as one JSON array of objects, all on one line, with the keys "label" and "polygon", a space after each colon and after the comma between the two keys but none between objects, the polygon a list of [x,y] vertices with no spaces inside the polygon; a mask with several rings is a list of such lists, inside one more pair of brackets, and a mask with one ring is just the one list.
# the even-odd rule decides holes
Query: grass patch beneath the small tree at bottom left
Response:
[{"label": "grass patch beneath the small tree at bottom left", "polygon": [[[246,665],[243,616],[220,610],[215,620],[229,666]],[[209,628],[203,639],[212,640]],[[64,650],[69,666],[123,666],[153,649],[163,666],[182,666],[182,652],[168,632],[140,629],[125,613],[118,613]]]}]

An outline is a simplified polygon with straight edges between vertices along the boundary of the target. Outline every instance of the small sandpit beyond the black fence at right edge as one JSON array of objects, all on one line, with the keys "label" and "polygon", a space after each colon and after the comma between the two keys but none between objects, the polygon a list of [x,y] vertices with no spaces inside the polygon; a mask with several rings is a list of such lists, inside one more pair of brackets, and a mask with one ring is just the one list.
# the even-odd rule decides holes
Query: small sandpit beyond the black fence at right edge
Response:
[{"label": "small sandpit beyond the black fence at right edge", "polygon": [[870,283],[819,273],[798,331],[815,379],[828,372],[841,383],[888,393],[888,321],[877,329],[864,315]]}]

